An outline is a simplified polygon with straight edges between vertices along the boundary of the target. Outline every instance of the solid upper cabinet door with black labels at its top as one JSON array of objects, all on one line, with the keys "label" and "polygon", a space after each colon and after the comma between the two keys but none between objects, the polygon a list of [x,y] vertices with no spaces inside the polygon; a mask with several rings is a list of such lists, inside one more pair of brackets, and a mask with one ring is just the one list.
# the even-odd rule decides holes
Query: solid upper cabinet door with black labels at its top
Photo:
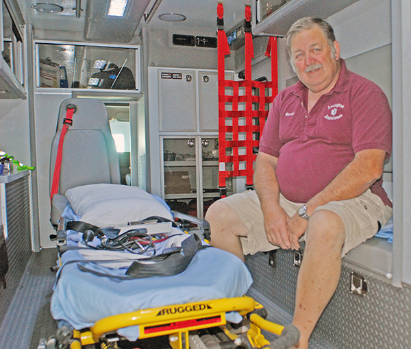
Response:
[{"label": "solid upper cabinet door with black labels at its top", "polygon": [[196,72],[158,70],[160,132],[197,131]]}]

